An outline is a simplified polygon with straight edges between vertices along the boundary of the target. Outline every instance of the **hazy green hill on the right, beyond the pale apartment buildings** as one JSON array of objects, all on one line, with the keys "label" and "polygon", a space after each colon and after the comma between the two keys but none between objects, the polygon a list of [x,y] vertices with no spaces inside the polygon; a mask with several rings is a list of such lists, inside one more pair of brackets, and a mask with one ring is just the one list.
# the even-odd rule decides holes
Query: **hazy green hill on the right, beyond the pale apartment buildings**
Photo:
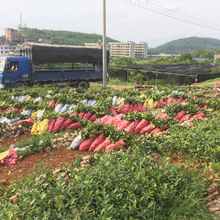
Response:
[{"label": "hazy green hill on the right, beyond the pale apartment buildings", "polygon": [[213,38],[188,37],[165,43],[156,48],[149,49],[149,55],[160,53],[165,54],[182,54],[192,50],[206,49],[214,51],[220,48],[220,40]]}]

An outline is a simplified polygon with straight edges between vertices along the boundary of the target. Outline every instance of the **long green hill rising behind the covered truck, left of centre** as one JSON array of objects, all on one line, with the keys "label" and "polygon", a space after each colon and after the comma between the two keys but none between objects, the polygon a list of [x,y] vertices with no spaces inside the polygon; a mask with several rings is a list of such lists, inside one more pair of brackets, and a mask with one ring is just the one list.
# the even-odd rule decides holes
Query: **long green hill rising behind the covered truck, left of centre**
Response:
[{"label": "long green hill rising behind the covered truck, left of centre", "polygon": [[[53,44],[59,45],[78,45],[84,46],[84,43],[98,43],[102,41],[102,35],[85,34],[72,31],[54,31],[54,30],[39,30],[33,28],[22,28],[19,32],[29,41],[38,42],[39,38],[51,38]],[[107,42],[116,42],[116,40],[106,37]]]}]

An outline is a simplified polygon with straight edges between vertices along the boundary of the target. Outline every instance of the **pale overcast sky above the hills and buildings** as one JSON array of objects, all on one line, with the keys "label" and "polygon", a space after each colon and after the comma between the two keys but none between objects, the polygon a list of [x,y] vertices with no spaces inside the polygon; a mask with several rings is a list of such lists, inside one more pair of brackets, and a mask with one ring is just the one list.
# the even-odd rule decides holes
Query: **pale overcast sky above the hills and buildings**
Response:
[{"label": "pale overcast sky above the hills and buildings", "polygon": [[[20,13],[29,28],[102,34],[102,4],[102,0],[0,0],[0,36],[5,28],[18,28]],[[220,0],[106,0],[107,36],[147,42],[150,48],[191,36],[220,39],[219,9]]]}]

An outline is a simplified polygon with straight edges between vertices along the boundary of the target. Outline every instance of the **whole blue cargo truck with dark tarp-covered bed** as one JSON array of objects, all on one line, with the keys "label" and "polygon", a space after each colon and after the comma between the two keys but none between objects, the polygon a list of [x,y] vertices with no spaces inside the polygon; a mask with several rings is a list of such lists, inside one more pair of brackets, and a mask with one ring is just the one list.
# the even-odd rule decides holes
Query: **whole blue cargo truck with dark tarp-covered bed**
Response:
[{"label": "whole blue cargo truck with dark tarp-covered bed", "polygon": [[0,57],[1,90],[33,85],[88,89],[89,82],[102,79],[98,48],[24,43],[20,56]]}]

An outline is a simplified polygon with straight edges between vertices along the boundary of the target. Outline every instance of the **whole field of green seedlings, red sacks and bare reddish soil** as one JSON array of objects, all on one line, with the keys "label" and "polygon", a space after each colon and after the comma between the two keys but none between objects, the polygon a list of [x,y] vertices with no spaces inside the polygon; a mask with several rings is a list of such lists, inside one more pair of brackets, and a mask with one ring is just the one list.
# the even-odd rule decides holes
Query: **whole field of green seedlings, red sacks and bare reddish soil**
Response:
[{"label": "whole field of green seedlings, red sacks and bare reddish soil", "polygon": [[219,217],[219,98],[213,86],[0,91],[1,219]]}]

